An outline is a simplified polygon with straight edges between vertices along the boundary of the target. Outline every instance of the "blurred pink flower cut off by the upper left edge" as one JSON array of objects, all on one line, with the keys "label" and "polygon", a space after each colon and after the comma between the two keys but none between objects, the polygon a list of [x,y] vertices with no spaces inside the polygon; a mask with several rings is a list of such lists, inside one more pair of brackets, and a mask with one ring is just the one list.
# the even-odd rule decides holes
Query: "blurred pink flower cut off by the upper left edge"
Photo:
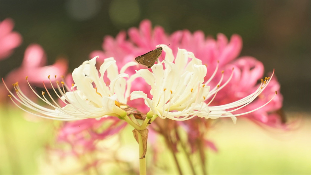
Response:
[{"label": "blurred pink flower cut off by the upper left edge", "polygon": [[10,18],[0,22],[0,60],[10,56],[13,50],[21,45],[22,37],[12,31],[13,27],[14,22]]}]

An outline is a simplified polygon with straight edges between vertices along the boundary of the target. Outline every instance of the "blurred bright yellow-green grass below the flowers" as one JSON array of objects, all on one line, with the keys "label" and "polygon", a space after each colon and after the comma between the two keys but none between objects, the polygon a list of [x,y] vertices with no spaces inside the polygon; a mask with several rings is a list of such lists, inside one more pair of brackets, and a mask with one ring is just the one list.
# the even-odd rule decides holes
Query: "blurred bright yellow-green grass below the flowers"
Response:
[{"label": "blurred bright yellow-green grass below the flowers", "polygon": [[[308,114],[299,115],[304,116],[301,125],[289,132],[265,130],[244,119],[238,119],[237,124],[220,120],[208,133],[219,149],[217,153],[208,151],[209,173],[311,174],[311,118],[305,117]],[[55,122],[31,116],[26,119],[32,121],[25,120],[25,113],[15,107],[0,106],[0,174],[39,172],[38,157],[53,140]],[[133,144],[131,130],[127,127],[123,131],[123,139]],[[184,160],[181,167],[185,174],[190,173],[184,155],[177,156]],[[164,160],[159,166],[169,168],[152,169],[154,174],[177,173],[167,150],[162,150],[159,159]],[[147,161],[150,163],[151,158],[147,157]],[[199,161],[194,158],[193,162]]]}]

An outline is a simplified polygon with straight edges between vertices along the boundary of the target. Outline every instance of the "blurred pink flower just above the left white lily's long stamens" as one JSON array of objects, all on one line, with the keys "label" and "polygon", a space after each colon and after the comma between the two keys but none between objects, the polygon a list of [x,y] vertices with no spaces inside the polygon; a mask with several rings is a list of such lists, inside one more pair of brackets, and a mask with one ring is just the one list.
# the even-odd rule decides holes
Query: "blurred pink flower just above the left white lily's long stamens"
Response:
[{"label": "blurred pink flower just above the left white lily's long stamens", "polygon": [[[64,58],[58,58],[54,64],[45,66],[47,63],[46,54],[44,49],[38,44],[29,45],[24,54],[24,59],[21,66],[17,69],[12,70],[5,78],[7,84],[13,84],[19,82],[19,88],[25,94],[31,94],[28,88],[28,83],[25,80],[25,75],[32,77],[28,82],[36,87],[44,87],[42,85],[42,80],[45,79],[51,72],[57,75],[65,75],[68,69],[68,62]],[[60,80],[60,77],[57,78]],[[55,83],[55,80],[52,80]],[[51,87],[50,84],[47,85],[48,88]],[[3,84],[0,84],[0,90],[2,92],[1,96],[6,96],[7,91]],[[33,99],[34,96],[30,96]],[[2,99],[3,97],[1,97]]]}]

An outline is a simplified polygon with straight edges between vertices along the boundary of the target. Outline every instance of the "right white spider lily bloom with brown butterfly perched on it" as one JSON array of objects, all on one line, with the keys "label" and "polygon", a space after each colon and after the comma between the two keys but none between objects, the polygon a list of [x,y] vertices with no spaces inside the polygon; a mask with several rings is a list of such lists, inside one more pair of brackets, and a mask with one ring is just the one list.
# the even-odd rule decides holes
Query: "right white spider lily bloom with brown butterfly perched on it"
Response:
[{"label": "right white spider lily bloom with brown butterfly perched on it", "polygon": [[[218,90],[222,89],[230,81],[233,72],[225,83],[210,90],[208,83],[216,74],[218,65],[212,77],[207,82],[204,82],[207,68],[205,65],[202,65],[200,59],[194,57],[192,52],[178,49],[176,58],[174,58],[172,50],[169,47],[163,47],[163,50],[166,53],[165,60],[160,64],[152,66],[152,72],[148,69],[136,71],[151,86],[150,93],[152,98],[148,98],[147,94],[142,91],[131,93],[131,100],[137,98],[143,98],[145,100],[145,104],[150,108],[150,111],[147,113],[148,118],[157,115],[161,118],[184,121],[194,116],[211,119],[231,117],[235,123],[236,116],[245,115],[252,111],[240,114],[232,114],[232,112],[252,102],[269,83],[270,78],[265,79],[257,91],[239,101],[227,105],[209,106]],[[189,59],[191,60],[188,61]],[[222,79],[223,72],[218,84],[221,83]],[[207,100],[209,102],[206,102]]]}]

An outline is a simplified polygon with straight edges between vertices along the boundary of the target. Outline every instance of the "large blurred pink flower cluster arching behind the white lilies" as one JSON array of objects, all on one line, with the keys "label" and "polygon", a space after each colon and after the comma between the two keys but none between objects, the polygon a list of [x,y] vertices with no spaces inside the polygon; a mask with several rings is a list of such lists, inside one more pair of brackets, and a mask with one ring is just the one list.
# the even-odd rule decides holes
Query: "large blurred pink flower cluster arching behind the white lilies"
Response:
[{"label": "large blurred pink flower cluster arching behind the white lilies", "polygon": [[[111,36],[105,36],[102,44],[103,50],[93,51],[90,54],[90,58],[96,55],[99,55],[100,58],[114,57],[120,68],[125,63],[132,61],[135,57],[154,50],[156,45],[170,44],[174,55],[177,53],[177,48],[182,48],[193,52],[198,59],[201,59],[202,63],[207,65],[207,77],[212,75],[219,61],[216,78],[213,78],[213,81],[210,83],[211,88],[217,86],[222,70],[225,70],[225,82],[229,78],[232,68],[234,68],[233,78],[224,89],[217,93],[211,106],[227,104],[246,97],[254,92],[254,89],[257,88],[258,80],[264,76],[264,66],[260,61],[251,56],[239,57],[242,50],[242,39],[239,35],[232,35],[230,41],[221,33],[217,35],[216,40],[206,37],[203,31],[191,33],[188,30],[183,30],[175,31],[171,35],[168,35],[162,27],[156,26],[152,29],[151,22],[144,20],[141,22],[139,28],[133,27],[128,30],[128,38],[127,40],[127,33],[125,31],[121,31],[115,39]],[[162,53],[162,57],[164,56],[165,53]],[[141,66],[141,68],[145,67]],[[135,73],[135,69],[137,68],[129,69],[132,72],[127,73],[133,74]],[[149,89],[146,89],[146,83],[142,79],[137,79],[134,84],[135,86],[132,87],[132,90],[141,90],[145,93],[149,92]],[[271,99],[275,91],[279,92],[279,90],[280,84],[274,78],[258,99],[241,110],[250,111],[258,106],[262,106]],[[245,117],[260,124],[281,127],[279,116],[273,112],[281,108],[282,101],[283,97],[281,93],[278,93],[267,106]],[[144,106],[142,104],[144,103],[137,102],[136,105],[131,105],[144,111],[144,108],[141,107]]]}]

